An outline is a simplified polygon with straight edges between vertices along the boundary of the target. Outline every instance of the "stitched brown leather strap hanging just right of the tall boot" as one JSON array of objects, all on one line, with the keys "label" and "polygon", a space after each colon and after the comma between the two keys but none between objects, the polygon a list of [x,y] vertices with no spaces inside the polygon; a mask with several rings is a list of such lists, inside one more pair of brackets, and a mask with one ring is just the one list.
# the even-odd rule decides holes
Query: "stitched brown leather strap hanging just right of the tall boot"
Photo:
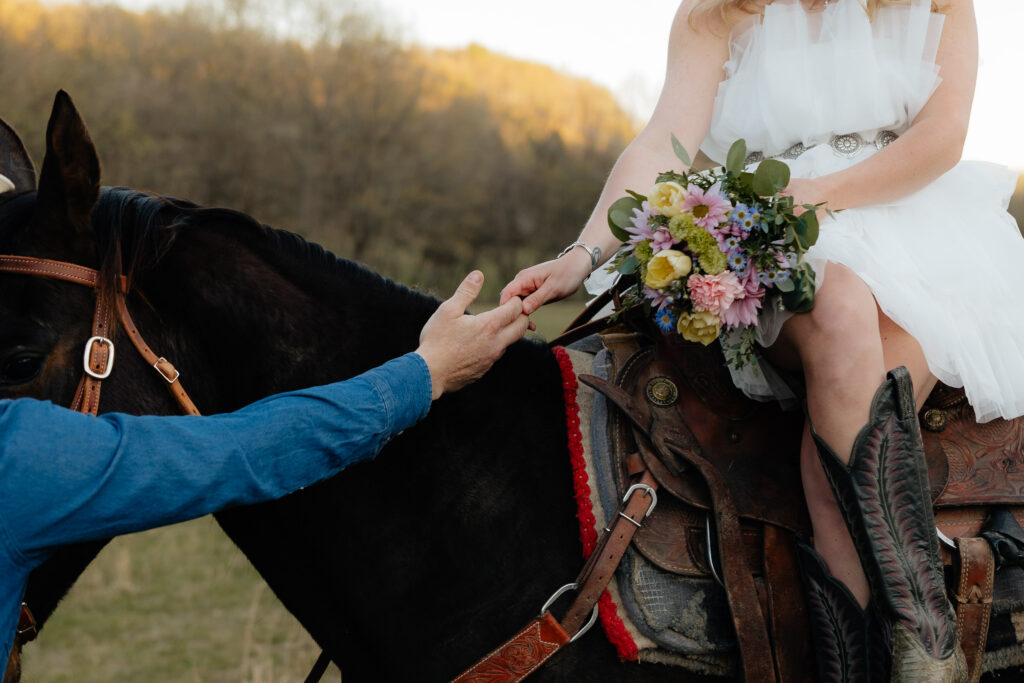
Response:
[{"label": "stitched brown leather strap hanging just right of the tall boot", "polygon": [[956,638],[967,657],[971,682],[981,678],[985,641],[992,615],[992,584],[995,558],[988,541],[958,538],[959,583],[956,589]]}]

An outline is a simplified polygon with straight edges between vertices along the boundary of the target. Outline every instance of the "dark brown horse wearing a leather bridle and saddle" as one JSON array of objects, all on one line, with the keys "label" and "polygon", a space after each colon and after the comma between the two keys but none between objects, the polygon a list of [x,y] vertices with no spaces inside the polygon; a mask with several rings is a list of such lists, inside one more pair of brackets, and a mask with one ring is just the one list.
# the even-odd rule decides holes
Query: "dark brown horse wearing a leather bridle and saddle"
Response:
[{"label": "dark brown horse wearing a leather bridle and saddle", "polygon": [[[96,153],[63,93],[38,188],[2,124],[0,173],[15,184],[0,195],[0,253],[98,268],[111,287],[123,269],[135,322],[203,413],[412,350],[437,305],[237,212],[100,188]],[[75,284],[0,275],[0,395],[72,402],[93,299]],[[123,339],[101,411],[175,413],[164,381]],[[346,681],[454,677],[583,563],[556,362],[544,345],[520,342],[373,463],[217,518]],[[40,622],[101,546],[60,549],[33,573],[27,600]],[[538,679],[679,673],[623,664],[594,632]]]}]

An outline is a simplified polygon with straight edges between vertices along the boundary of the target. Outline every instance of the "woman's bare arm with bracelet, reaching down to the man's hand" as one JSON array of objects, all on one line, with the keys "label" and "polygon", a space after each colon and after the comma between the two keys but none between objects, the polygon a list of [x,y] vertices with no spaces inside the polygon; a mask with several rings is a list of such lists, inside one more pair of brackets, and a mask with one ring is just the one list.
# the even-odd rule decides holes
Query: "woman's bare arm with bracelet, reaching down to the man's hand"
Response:
[{"label": "woman's bare arm with bracelet, reaching down to the man's hand", "polygon": [[[689,13],[695,0],[685,0],[676,11],[669,39],[665,84],[650,121],[620,156],[605,182],[597,206],[580,233],[580,242],[601,250],[606,261],[620,242],[608,229],[608,207],[627,189],[645,191],[655,176],[680,165],[672,151],[672,135],[695,154],[711,126],[712,110],[722,66],[729,56],[726,27],[717,14],[707,26],[690,26]],[[591,259],[583,249],[573,249],[557,260],[520,271],[502,291],[502,302],[524,297],[527,315],[548,301],[575,292],[591,272]]]}]

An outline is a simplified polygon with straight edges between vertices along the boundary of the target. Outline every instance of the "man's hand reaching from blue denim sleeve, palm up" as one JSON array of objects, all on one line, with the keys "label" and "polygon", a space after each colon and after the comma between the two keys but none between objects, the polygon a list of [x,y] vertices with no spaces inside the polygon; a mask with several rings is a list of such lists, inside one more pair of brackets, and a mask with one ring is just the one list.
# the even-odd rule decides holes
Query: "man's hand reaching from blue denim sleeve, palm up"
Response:
[{"label": "man's hand reaching from blue denim sleeve, palm up", "polygon": [[430,369],[433,398],[479,379],[509,344],[526,332],[529,318],[522,314],[522,300],[518,297],[479,315],[466,313],[482,286],[483,273],[479,270],[466,275],[420,332],[416,352]]}]

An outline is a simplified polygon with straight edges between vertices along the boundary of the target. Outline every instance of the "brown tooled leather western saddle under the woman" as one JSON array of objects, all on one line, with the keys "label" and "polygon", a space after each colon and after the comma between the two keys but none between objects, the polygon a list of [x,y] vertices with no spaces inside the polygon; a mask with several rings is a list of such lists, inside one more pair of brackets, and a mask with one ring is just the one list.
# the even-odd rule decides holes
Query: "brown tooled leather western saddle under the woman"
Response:
[{"label": "brown tooled leather western saddle under the woman", "polygon": [[[806,680],[813,653],[794,545],[795,535],[810,536],[798,458],[803,416],[744,396],[717,346],[632,332],[602,340],[613,381],[581,380],[622,409],[609,426],[622,454],[617,480],[642,467],[660,489],[634,547],[667,571],[723,583],[748,675],[749,663],[761,660],[775,680]],[[994,571],[978,536],[992,506],[1024,522],[1024,419],[978,424],[963,390],[944,385],[921,419],[943,560],[977,680]]]}]

